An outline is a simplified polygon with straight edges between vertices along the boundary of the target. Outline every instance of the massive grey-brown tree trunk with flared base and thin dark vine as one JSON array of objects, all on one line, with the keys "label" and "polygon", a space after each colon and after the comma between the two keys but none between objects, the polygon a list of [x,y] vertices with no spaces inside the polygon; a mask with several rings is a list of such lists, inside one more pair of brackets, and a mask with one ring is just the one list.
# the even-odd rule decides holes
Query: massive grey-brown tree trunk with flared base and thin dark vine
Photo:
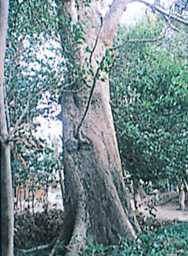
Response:
[{"label": "massive grey-brown tree trunk with flared base and thin dark vine", "polygon": [[[65,47],[65,39],[69,38],[69,45],[77,47],[76,65],[79,63],[81,70],[87,70],[91,65],[93,72],[86,77],[91,88],[80,90],[82,84],[77,82],[72,90],[62,94],[65,163],[62,241],[68,245],[69,255],[79,254],[86,241],[116,244],[119,235],[136,237],[127,217],[126,189],[109,102],[109,79],[100,71],[101,77],[106,79],[96,80],[99,63],[106,49],[112,46],[126,1],[114,1],[109,15],[102,22],[96,1],[92,1],[89,7],[82,1],[78,2],[79,9],[75,9],[72,1],[57,1],[59,15],[65,16],[69,12],[72,22],[79,17],[86,32],[82,45],[76,45],[71,29],[65,24],[60,25],[62,45]],[[87,46],[92,53],[86,53]],[[87,63],[90,64],[87,66]],[[88,104],[89,97],[92,98],[91,104]]]}]

